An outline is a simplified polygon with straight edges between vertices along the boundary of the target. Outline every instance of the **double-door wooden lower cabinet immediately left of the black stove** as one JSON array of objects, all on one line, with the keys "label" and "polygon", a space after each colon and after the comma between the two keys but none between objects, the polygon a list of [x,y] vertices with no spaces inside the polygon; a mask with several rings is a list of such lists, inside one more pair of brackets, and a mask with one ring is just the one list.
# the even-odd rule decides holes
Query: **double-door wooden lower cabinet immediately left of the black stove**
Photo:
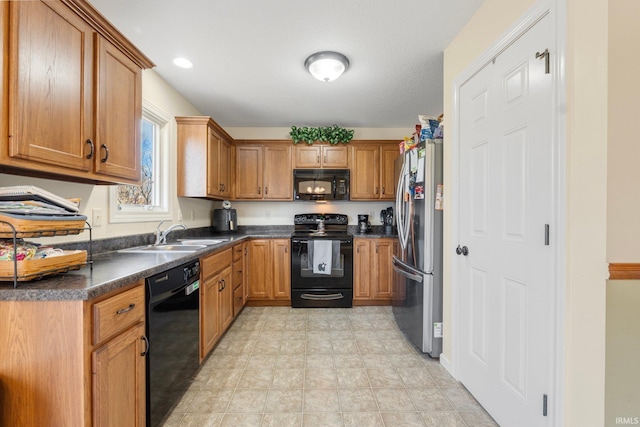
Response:
[{"label": "double-door wooden lower cabinet immediately left of the black stove", "polygon": [[291,303],[290,246],[289,239],[256,239],[249,242],[248,303]]}]

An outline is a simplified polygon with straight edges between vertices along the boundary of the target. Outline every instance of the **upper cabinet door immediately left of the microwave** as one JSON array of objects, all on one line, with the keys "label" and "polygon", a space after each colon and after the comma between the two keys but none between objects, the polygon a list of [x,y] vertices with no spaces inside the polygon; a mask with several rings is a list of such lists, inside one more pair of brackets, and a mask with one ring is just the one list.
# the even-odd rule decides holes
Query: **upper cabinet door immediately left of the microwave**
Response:
[{"label": "upper cabinet door immediately left of the microwave", "polygon": [[266,146],[264,153],[264,198],[291,200],[293,198],[291,147]]}]

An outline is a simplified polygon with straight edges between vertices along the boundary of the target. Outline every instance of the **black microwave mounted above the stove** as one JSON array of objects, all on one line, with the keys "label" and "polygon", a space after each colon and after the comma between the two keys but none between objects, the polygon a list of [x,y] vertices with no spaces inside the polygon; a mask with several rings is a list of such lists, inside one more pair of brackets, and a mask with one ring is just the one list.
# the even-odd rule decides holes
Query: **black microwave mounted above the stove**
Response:
[{"label": "black microwave mounted above the stove", "polygon": [[294,169],[293,200],[349,200],[349,169]]}]

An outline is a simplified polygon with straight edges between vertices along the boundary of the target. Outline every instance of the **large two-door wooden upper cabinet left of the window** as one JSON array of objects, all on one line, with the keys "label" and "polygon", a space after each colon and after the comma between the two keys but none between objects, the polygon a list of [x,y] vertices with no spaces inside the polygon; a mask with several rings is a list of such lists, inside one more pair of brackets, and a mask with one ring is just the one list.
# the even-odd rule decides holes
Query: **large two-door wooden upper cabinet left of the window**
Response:
[{"label": "large two-door wooden upper cabinet left of the window", "polygon": [[142,69],[153,63],[81,0],[0,2],[0,18],[0,164],[138,183]]}]

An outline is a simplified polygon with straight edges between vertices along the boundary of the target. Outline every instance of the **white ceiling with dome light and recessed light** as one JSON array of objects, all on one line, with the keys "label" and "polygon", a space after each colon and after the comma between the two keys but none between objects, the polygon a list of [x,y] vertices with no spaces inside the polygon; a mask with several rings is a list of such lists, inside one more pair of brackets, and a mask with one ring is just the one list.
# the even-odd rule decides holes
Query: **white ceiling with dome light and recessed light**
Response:
[{"label": "white ceiling with dome light and recessed light", "polygon": [[[443,50],[482,0],[89,0],[223,127],[413,127],[442,112]],[[347,55],[323,83],[304,60]],[[184,56],[189,70],[172,64]]]}]

